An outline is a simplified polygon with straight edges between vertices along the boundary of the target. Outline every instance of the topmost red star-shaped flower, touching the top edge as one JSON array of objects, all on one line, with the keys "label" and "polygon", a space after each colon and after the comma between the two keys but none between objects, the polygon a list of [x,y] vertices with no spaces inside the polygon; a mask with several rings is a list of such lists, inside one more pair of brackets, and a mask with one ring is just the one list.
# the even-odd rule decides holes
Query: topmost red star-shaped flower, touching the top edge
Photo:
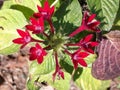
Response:
[{"label": "topmost red star-shaped flower, touching the top edge", "polygon": [[54,13],[54,6],[50,7],[48,1],[46,0],[46,2],[44,3],[44,7],[40,7],[40,6],[37,6],[38,8],[38,13],[34,13],[34,17],[36,18],[40,18],[40,17],[43,17],[44,20],[50,20],[53,13]]}]

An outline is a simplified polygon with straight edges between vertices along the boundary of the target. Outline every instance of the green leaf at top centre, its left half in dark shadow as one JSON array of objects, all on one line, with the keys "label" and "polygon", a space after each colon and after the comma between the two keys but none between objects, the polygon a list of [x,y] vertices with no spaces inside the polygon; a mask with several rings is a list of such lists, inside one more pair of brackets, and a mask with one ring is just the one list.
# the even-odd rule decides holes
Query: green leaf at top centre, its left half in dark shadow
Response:
[{"label": "green leaf at top centre, its left half in dark shadow", "polygon": [[65,0],[55,13],[54,26],[57,31],[69,34],[81,24],[82,12],[78,0]]}]

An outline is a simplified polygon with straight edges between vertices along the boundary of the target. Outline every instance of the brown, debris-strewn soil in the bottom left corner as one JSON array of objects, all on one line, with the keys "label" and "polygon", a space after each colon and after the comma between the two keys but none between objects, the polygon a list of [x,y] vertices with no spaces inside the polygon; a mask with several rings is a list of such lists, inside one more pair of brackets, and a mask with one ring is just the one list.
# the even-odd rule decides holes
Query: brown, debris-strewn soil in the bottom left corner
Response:
[{"label": "brown, debris-strewn soil in the bottom left corner", "polygon": [[27,60],[22,52],[0,55],[0,90],[27,90]]}]

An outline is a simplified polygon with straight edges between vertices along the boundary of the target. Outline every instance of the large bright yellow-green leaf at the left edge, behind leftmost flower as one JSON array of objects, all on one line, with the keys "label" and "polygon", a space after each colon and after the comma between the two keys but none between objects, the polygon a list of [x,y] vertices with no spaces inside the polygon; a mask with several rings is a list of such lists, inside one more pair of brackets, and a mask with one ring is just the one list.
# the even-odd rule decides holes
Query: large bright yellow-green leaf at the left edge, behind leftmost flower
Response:
[{"label": "large bright yellow-green leaf at the left edge, behind leftmost flower", "polygon": [[17,28],[26,24],[24,15],[16,10],[5,9],[0,11],[0,53],[9,54],[18,50],[18,46],[12,40],[18,37]]}]

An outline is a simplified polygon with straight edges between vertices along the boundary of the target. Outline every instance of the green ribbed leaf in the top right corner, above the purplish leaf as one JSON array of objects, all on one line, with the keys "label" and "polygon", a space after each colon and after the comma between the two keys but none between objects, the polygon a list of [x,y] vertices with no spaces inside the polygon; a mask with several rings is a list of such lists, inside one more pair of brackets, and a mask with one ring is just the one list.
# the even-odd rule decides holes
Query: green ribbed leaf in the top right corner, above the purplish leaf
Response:
[{"label": "green ribbed leaf in the top right corner, above the purplish leaf", "polygon": [[109,31],[116,17],[120,0],[87,0],[92,13],[97,14],[97,19],[101,21],[100,28]]}]

